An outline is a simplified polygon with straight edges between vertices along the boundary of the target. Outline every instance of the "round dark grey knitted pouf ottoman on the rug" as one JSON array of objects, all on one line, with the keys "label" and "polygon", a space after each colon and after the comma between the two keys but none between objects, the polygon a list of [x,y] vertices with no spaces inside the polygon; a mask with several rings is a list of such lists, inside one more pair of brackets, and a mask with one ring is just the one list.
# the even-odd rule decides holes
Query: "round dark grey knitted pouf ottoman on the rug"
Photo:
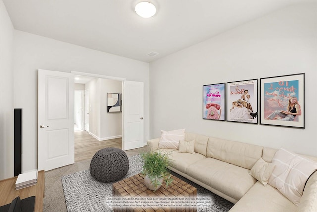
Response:
[{"label": "round dark grey knitted pouf ottoman on the rug", "polygon": [[101,182],[113,182],[124,177],[129,170],[129,159],[118,148],[104,148],[96,152],[90,162],[91,176]]}]

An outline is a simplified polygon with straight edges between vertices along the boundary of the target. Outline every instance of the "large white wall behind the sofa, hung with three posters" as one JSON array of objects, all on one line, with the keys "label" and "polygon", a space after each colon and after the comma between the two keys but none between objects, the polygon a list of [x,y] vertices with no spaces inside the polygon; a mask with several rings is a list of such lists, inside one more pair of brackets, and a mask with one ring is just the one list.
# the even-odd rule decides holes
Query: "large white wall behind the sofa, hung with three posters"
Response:
[{"label": "large white wall behind the sofa, hung with three posters", "polygon": [[[150,137],[159,137],[161,129],[186,128],[317,156],[316,4],[275,11],[150,63]],[[306,129],[202,119],[203,85],[303,72]]]}]

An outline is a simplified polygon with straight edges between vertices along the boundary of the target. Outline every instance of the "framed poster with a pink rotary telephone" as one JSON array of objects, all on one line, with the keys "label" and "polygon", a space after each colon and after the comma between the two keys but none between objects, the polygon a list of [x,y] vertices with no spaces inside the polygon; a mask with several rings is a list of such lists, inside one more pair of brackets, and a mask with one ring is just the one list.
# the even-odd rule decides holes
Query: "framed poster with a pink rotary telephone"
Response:
[{"label": "framed poster with a pink rotary telephone", "polygon": [[203,119],[225,121],[225,83],[203,85]]}]

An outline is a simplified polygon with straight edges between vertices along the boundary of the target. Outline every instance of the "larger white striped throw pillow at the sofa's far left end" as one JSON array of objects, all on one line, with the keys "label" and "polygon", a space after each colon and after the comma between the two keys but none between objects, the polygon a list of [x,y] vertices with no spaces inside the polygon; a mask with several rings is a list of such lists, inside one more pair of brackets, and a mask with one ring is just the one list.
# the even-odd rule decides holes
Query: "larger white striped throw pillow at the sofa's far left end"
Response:
[{"label": "larger white striped throw pillow at the sofa's far left end", "polygon": [[178,149],[178,143],[180,140],[185,140],[185,129],[172,131],[161,130],[159,149]]}]

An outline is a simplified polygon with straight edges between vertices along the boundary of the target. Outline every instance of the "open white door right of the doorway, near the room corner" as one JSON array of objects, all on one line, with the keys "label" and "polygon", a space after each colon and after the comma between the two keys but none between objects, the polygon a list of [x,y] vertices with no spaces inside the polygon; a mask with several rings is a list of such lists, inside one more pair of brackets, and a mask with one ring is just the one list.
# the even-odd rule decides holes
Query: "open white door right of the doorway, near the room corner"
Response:
[{"label": "open white door right of the doorway, near the room corner", "polygon": [[124,81],[122,149],[143,147],[143,82]]}]

